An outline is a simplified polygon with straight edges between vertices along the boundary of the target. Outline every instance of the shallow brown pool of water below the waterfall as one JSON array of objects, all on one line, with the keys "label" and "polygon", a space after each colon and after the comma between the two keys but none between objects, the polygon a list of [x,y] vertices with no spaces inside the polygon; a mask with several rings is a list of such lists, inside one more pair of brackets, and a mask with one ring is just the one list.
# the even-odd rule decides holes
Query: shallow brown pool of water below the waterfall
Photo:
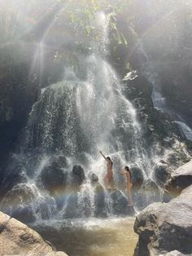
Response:
[{"label": "shallow brown pool of water below the waterfall", "polygon": [[33,228],[69,256],[133,256],[134,218],[68,219],[36,223]]}]

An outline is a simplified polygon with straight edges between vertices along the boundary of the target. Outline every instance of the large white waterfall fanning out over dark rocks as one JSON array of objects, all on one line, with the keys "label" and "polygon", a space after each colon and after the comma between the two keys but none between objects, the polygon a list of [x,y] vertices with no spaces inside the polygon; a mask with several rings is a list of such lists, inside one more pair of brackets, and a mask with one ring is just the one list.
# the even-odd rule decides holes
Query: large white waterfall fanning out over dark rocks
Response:
[{"label": "large white waterfall fanning out over dark rocks", "polygon": [[[17,191],[17,210],[26,213],[29,207],[37,220],[113,214],[112,200],[125,197],[119,192],[112,199],[103,188],[106,166],[100,150],[115,162],[116,184],[122,183],[117,170],[127,162],[140,168],[144,179],[150,176],[154,159],[146,152],[136,109],[106,60],[109,19],[101,12],[94,20],[100,40],[92,42],[92,53],[82,60],[85,80],[68,68],[63,81],[41,90],[16,155],[23,175],[3,207],[11,205],[10,194]],[[76,165],[85,169],[85,177]],[[20,193],[26,195],[24,200]],[[7,211],[12,210],[9,206]]]}]

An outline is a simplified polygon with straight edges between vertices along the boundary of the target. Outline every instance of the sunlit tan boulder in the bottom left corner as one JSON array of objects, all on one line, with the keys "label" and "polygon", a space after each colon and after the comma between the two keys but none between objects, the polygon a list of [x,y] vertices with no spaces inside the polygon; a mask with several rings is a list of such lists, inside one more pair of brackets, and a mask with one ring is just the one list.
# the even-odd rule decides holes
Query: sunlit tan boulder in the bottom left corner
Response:
[{"label": "sunlit tan boulder in the bottom left corner", "polygon": [[0,255],[67,256],[55,252],[33,229],[0,212]]}]

